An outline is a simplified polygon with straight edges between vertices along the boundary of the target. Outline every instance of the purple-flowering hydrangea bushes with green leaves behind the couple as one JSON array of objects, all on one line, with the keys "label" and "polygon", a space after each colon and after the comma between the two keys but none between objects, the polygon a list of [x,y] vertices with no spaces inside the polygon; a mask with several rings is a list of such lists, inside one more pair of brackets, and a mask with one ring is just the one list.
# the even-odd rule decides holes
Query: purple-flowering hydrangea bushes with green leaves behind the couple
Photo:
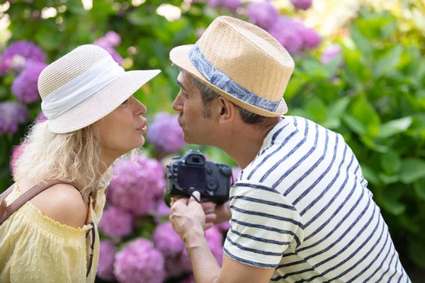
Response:
[{"label": "purple-flowering hydrangea bushes with green leaves behind the couple", "polygon": [[[179,91],[178,71],[170,66],[169,50],[196,42],[218,15],[258,25],[293,55],[295,71],[284,95],[288,115],[307,117],[344,136],[361,163],[407,272],[408,268],[425,269],[425,57],[423,28],[419,28],[423,15],[414,18],[421,7],[408,13],[395,11],[395,15],[409,15],[410,21],[389,11],[360,10],[327,37],[315,29],[319,26],[305,21],[305,15],[314,12],[311,0],[291,0],[288,5],[271,0],[177,1],[173,5],[181,8],[182,16],[176,21],[154,12],[164,4],[159,0],[140,6],[133,4],[138,1],[93,1],[91,10],[83,8],[81,1],[67,5],[47,0],[18,2],[1,12],[10,16],[12,35],[6,45],[0,42],[0,166],[4,172],[0,182],[4,188],[11,185],[6,172],[13,171],[13,160],[21,150],[11,149],[31,122],[45,121],[36,84],[45,64],[77,45],[94,42],[127,71],[162,70],[134,95],[147,106],[145,116],[152,123],[148,123],[144,154],[136,156],[135,162],[124,158],[114,164],[99,224],[99,278],[194,282],[191,261],[170,229],[170,209],[162,200],[164,165],[186,146],[176,115],[167,114]],[[57,9],[57,16],[43,18],[44,6]],[[0,40],[4,38],[1,34]],[[195,149],[206,151],[213,161],[236,166],[220,150]],[[225,222],[206,232],[218,262],[224,241],[220,235],[228,229]],[[152,257],[152,262],[144,255]]]}]

